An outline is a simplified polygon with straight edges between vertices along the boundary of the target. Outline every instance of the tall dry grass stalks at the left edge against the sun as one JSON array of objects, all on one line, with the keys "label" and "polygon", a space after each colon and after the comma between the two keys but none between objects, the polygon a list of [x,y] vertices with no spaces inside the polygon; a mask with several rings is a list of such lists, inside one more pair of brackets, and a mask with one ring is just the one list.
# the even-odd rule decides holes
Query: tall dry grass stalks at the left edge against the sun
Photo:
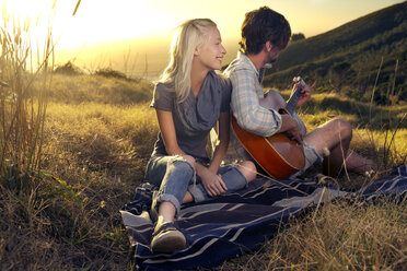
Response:
[{"label": "tall dry grass stalks at the left edge against the sun", "polygon": [[[3,15],[7,16],[3,7]],[[7,16],[8,17],[8,16]],[[49,69],[54,66],[54,43],[48,27],[43,55],[37,50],[37,68],[33,69],[30,21],[3,19],[0,25],[0,180],[21,185],[40,168],[46,90]],[[30,60],[31,69],[27,69]],[[49,63],[51,67],[49,67]],[[35,71],[34,71],[35,70]],[[34,72],[33,72],[34,71]],[[36,86],[33,82],[42,82]]]}]

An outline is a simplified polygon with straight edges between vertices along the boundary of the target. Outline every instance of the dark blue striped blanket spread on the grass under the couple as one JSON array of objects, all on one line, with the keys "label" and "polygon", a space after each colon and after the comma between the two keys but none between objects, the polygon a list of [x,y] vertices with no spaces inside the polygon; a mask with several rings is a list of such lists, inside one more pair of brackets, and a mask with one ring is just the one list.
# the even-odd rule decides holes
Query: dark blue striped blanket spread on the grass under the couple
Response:
[{"label": "dark blue striped blanket spread on the grass under the couple", "polygon": [[358,191],[338,190],[328,181],[298,179],[270,181],[257,178],[234,195],[199,204],[186,204],[177,225],[187,237],[184,250],[172,255],[152,254],[149,245],[153,224],[148,210],[154,188],[143,184],[135,199],[121,210],[121,217],[133,247],[138,270],[179,270],[213,268],[229,258],[254,250],[289,217],[317,204],[338,199],[374,201],[379,197],[402,200],[407,192],[406,165]]}]

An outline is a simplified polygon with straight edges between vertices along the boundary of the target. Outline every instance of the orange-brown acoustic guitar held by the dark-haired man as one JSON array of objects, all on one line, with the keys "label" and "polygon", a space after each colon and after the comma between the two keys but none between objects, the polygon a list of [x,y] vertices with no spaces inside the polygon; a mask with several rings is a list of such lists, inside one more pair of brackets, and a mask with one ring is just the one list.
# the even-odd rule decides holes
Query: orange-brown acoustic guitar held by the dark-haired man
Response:
[{"label": "orange-brown acoustic guitar held by the dark-haired man", "polygon": [[[301,90],[305,82],[294,78],[294,82],[301,82],[286,108],[280,108],[280,114],[293,115],[295,106],[301,97]],[[271,177],[284,179],[305,166],[304,149],[288,133],[281,132],[270,137],[260,137],[242,129],[232,115],[232,129],[244,149],[252,155],[257,164]]]}]

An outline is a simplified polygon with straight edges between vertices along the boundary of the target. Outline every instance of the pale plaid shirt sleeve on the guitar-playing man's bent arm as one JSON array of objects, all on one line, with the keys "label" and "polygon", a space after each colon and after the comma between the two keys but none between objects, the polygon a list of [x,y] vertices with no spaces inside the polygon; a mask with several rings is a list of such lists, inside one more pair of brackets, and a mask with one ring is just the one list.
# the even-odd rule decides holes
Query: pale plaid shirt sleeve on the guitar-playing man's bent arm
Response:
[{"label": "pale plaid shirt sleeve on the guitar-playing man's bent arm", "polygon": [[233,86],[231,108],[239,126],[261,137],[275,134],[281,127],[281,115],[259,105],[255,71],[236,69],[230,74],[230,79]]}]

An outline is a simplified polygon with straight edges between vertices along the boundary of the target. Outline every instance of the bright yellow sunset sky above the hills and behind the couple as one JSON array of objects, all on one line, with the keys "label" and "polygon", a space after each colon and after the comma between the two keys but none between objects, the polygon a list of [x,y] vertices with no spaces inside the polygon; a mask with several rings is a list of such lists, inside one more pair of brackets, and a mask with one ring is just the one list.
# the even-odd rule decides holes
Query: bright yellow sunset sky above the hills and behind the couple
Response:
[{"label": "bright yellow sunset sky above the hills and behind the couple", "polygon": [[78,0],[1,2],[3,16],[5,7],[9,15],[20,20],[30,17],[32,35],[39,39],[45,27],[51,24],[54,36],[59,38],[57,47],[65,51],[66,57],[68,51],[71,54],[68,58],[72,58],[72,54],[75,54],[75,58],[81,58],[81,55],[96,57],[96,46],[111,45],[107,47],[112,49],[114,45],[113,51],[106,48],[98,51],[107,60],[111,54],[120,51],[124,55],[135,44],[138,46],[133,51],[146,55],[146,58],[147,47],[165,48],[163,51],[167,55],[172,31],[187,19],[212,19],[218,24],[226,49],[231,48],[228,54],[234,56],[235,47],[229,46],[228,42],[235,44],[239,39],[244,14],[263,5],[282,13],[293,33],[301,32],[310,37],[403,0],[82,0],[74,16],[72,12]]}]

